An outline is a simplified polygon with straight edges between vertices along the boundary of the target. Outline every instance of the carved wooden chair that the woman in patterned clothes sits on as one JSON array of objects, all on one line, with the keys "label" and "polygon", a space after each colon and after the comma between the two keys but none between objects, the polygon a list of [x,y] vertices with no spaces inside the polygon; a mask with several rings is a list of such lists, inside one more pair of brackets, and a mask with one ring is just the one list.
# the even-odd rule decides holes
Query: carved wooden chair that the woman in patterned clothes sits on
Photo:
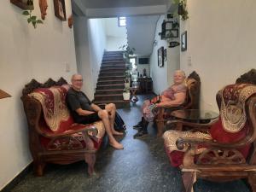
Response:
[{"label": "carved wooden chair that the woman in patterned clothes sits on", "polygon": [[161,108],[159,113],[156,116],[155,123],[157,126],[157,135],[158,137],[162,136],[165,131],[166,122],[171,119],[172,111],[182,108],[188,109],[197,109],[199,108],[199,98],[200,98],[200,89],[201,89],[201,80],[199,75],[194,71],[189,74],[185,79],[187,90],[186,102],[180,107],[174,108]]}]

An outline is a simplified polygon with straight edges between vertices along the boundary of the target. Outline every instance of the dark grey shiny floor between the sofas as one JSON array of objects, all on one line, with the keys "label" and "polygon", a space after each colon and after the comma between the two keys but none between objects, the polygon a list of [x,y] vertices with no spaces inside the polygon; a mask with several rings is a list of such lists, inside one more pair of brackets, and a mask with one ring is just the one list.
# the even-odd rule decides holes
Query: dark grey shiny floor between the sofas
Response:
[{"label": "dark grey shiny floor between the sofas", "polygon": [[[181,191],[181,174],[170,166],[161,138],[155,137],[152,125],[149,135],[133,139],[132,129],[140,119],[140,101],[131,104],[131,109],[121,109],[119,114],[125,119],[127,134],[122,139],[124,150],[114,150],[102,146],[96,160],[96,176],[89,177],[84,161],[68,166],[49,165],[44,177],[35,177],[30,172],[12,192],[35,191],[88,191],[88,192],[178,192]],[[195,192],[248,192],[241,180],[230,183],[211,183],[198,180]]]}]

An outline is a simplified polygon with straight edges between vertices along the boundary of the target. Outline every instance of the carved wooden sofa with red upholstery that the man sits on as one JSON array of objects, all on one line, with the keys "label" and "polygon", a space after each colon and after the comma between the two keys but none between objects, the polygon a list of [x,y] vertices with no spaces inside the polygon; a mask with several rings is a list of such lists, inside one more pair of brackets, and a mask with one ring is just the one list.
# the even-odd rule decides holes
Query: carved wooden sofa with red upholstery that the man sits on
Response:
[{"label": "carved wooden sofa with red upholstery that the man sits on", "polygon": [[40,84],[32,79],[21,100],[29,130],[29,147],[34,172],[42,176],[46,163],[70,164],[85,160],[88,173],[94,172],[96,151],[105,134],[102,121],[93,125],[73,122],[66,105],[69,85],[65,79]]}]

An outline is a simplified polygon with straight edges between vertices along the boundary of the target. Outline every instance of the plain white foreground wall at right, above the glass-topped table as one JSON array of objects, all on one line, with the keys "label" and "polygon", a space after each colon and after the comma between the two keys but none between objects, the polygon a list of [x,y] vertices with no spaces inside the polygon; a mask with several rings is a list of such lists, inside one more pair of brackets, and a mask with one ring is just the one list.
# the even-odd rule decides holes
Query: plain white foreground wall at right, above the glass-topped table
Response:
[{"label": "plain white foreground wall at right, above the glass-topped table", "polygon": [[[255,68],[256,1],[188,0],[188,49],[181,52],[181,68],[201,77],[201,108],[218,111],[215,96],[225,84]],[[188,57],[191,56],[191,65]]]}]

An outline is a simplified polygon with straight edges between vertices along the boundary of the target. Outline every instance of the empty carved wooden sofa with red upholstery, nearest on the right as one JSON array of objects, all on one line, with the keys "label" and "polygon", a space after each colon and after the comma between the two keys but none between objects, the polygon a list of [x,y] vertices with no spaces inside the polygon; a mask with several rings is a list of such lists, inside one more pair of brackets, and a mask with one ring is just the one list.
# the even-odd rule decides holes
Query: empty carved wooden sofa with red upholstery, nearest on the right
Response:
[{"label": "empty carved wooden sofa with red upholstery, nearest on the right", "polygon": [[216,182],[247,178],[256,192],[256,70],[218,91],[216,99],[218,121],[208,130],[166,131],[166,153],[182,169],[183,191],[193,191],[201,177]]}]

